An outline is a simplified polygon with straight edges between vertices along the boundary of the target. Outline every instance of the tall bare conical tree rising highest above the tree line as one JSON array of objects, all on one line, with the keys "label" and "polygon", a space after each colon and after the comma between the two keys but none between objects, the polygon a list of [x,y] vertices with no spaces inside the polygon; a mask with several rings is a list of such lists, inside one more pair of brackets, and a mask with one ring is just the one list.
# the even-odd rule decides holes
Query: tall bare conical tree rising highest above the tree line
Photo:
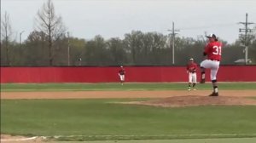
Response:
[{"label": "tall bare conical tree rising highest above the tree line", "polygon": [[44,3],[42,9],[38,10],[38,30],[44,31],[48,36],[49,66],[53,66],[54,49],[53,43],[65,34],[66,28],[63,25],[61,16],[55,14],[55,7],[51,0]]}]

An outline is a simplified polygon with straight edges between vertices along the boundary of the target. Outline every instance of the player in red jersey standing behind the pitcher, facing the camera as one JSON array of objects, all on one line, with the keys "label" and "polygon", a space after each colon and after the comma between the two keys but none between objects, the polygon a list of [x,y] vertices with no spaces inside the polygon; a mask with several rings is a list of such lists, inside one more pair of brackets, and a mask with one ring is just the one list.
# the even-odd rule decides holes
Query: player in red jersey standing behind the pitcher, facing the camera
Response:
[{"label": "player in red jersey standing behind the pitcher, facing the camera", "polygon": [[189,73],[189,91],[191,90],[191,83],[193,83],[193,90],[196,90],[196,68],[197,64],[195,63],[193,58],[190,58],[189,63],[187,65],[187,72]]}]

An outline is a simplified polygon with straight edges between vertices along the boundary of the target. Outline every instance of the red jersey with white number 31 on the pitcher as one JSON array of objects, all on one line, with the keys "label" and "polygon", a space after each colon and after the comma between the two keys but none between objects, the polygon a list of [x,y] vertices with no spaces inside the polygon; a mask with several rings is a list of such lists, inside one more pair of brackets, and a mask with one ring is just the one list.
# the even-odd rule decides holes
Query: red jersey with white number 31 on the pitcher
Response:
[{"label": "red jersey with white number 31 on the pitcher", "polygon": [[204,54],[207,54],[207,59],[208,60],[221,60],[221,48],[222,47],[222,43],[219,42],[212,42],[212,43],[208,43]]}]

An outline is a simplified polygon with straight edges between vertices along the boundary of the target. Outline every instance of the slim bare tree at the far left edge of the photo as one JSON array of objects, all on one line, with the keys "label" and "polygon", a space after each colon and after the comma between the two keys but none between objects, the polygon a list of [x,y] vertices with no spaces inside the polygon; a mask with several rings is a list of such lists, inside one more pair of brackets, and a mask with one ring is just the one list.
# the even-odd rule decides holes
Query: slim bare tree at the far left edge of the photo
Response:
[{"label": "slim bare tree at the far left edge of the photo", "polygon": [[[11,63],[9,60],[9,42],[11,40],[11,36],[12,36],[13,32],[12,32],[12,28],[10,25],[9,14],[7,12],[4,13],[3,20],[1,21],[1,24],[2,24],[1,31],[3,31],[3,32],[1,32],[1,36],[3,37],[3,44],[6,49],[6,53],[5,53],[6,64],[7,64],[7,66],[10,66]],[[1,41],[2,41],[2,39],[1,39]],[[2,47],[1,47],[1,51],[3,51]]]}]

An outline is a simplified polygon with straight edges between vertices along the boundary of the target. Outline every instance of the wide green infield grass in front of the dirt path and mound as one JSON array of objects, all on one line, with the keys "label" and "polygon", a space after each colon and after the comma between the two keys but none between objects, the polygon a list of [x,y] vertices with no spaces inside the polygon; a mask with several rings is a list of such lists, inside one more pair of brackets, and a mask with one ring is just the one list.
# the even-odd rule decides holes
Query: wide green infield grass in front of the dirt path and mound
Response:
[{"label": "wide green infield grass in front of the dirt path and mound", "polygon": [[[61,140],[252,137],[256,106],[160,108],[127,100],[3,100],[6,134],[63,135]],[[73,137],[66,137],[74,135]],[[81,136],[80,136],[81,135]]]}]

